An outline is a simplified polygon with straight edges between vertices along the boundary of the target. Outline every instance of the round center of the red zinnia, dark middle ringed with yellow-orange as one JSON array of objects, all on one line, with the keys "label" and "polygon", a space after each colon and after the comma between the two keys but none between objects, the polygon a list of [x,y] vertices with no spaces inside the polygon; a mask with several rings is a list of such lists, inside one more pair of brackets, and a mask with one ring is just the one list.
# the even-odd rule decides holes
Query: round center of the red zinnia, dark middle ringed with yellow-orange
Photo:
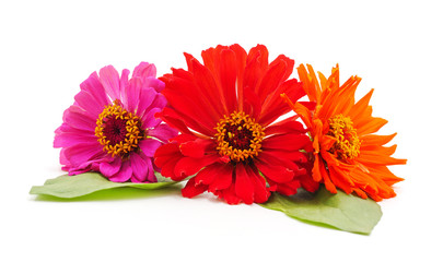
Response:
[{"label": "round center of the red zinnia, dark middle ringed with yellow-orange", "polygon": [[222,156],[243,162],[261,152],[265,132],[259,123],[243,111],[234,111],[230,117],[224,116],[217,123],[215,130],[217,150]]}]

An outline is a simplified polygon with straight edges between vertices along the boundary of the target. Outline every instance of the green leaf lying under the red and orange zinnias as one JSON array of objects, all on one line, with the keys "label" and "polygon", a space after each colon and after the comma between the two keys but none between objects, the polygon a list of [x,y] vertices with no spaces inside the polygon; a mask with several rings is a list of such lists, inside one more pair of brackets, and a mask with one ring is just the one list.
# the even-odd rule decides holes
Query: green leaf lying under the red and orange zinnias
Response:
[{"label": "green leaf lying under the red and orange zinnias", "polygon": [[315,194],[306,191],[293,196],[273,193],[268,202],[260,205],[307,223],[365,235],[371,234],[382,217],[382,210],[373,200],[363,200],[342,191],[333,194],[324,187]]}]

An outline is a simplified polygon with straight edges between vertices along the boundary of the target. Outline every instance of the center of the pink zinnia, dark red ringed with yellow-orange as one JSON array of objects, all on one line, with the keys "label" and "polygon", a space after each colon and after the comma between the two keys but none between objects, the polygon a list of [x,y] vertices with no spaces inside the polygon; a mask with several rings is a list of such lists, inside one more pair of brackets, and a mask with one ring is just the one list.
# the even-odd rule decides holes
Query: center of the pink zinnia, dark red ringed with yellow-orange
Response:
[{"label": "center of the pink zinnia, dark red ringed with yellow-orange", "polygon": [[106,106],[96,121],[95,136],[103,145],[103,151],[121,158],[136,151],[140,140],[144,138],[139,117],[125,110],[117,99],[114,105]]}]

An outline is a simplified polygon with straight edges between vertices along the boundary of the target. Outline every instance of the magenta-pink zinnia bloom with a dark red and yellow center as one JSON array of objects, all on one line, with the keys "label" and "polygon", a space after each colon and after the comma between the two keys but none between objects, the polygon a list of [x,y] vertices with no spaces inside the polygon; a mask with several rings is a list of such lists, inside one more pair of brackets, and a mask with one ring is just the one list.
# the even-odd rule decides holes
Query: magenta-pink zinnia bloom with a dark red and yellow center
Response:
[{"label": "magenta-pink zinnia bloom with a dark red and yellow center", "polygon": [[154,64],[140,63],[128,80],[114,67],[92,73],[63,114],[54,147],[69,175],[100,171],[115,182],[155,182],[155,150],[177,132],[154,117],[166,105]]}]

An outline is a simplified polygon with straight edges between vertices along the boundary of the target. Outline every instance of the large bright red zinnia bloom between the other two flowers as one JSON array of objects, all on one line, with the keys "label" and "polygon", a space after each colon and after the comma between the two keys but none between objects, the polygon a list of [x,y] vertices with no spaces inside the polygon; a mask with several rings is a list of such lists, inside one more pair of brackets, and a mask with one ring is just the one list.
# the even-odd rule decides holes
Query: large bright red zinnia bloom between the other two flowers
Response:
[{"label": "large bright red zinnia bloom between the other two flowers", "polygon": [[168,105],[160,116],[182,133],[155,153],[162,175],[182,180],[197,174],[184,196],[209,191],[230,204],[263,203],[270,191],[289,195],[300,186],[315,191],[306,130],[293,117],[275,122],[291,111],[281,93],[293,100],[305,95],[300,82],[288,80],[294,61],[281,55],[268,63],[261,45],[248,53],[238,45],[218,46],[201,56],[203,64],[185,53],[188,70],[162,78]]}]

